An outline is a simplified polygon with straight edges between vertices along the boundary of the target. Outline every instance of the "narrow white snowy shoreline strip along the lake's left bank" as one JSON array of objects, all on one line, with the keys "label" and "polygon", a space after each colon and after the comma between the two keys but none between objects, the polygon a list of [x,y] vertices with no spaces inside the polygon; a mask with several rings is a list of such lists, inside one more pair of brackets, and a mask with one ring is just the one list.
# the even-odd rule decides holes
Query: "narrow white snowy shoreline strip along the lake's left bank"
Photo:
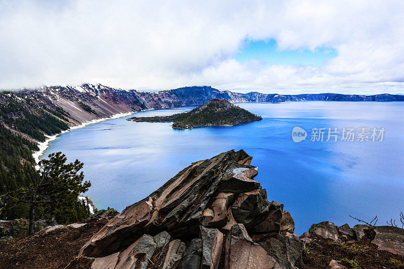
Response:
[{"label": "narrow white snowy shoreline strip along the lake's left bank", "polygon": [[38,143],[39,150],[32,152],[32,157],[35,160],[35,168],[36,169],[39,168],[39,166],[38,166],[39,158],[43,155],[45,150],[49,147],[49,143],[51,141],[56,140],[59,135],[64,134],[64,133],[68,133],[68,132],[70,132],[72,130],[75,130],[75,129],[80,129],[80,128],[86,127],[86,126],[88,126],[90,124],[99,123],[99,122],[103,122],[103,121],[106,121],[106,120],[113,120],[113,119],[126,117],[126,116],[129,116],[129,115],[133,114],[133,113],[135,113],[135,112],[123,112],[123,113],[114,114],[114,115],[112,115],[111,117],[108,117],[108,118],[94,119],[94,120],[91,120],[91,121],[88,121],[88,122],[85,122],[85,123],[81,123],[81,124],[76,125],[76,126],[72,126],[69,129],[60,132],[59,134],[55,134],[55,135],[52,135],[52,136],[46,135],[46,140],[44,142],[39,142]]}]

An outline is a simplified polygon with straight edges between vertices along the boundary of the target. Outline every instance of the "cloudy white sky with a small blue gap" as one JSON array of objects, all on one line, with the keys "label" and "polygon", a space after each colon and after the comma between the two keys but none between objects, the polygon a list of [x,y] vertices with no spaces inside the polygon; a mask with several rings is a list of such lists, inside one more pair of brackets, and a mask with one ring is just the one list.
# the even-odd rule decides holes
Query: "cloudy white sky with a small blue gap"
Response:
[{"label": "cloudy white sky with a small blue gap", "polygon": [[0,40],[1,89],[404,93],[401,0],[0,0]]}]

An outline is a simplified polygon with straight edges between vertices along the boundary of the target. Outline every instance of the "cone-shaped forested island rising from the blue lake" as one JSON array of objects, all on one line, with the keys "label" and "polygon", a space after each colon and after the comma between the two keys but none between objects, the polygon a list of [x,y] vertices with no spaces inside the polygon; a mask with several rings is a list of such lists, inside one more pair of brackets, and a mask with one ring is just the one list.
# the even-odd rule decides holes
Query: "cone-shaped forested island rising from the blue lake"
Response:
[{"label": "cone-shaped forested island rising from the blue lake", "polygon": [[173,122],[174,129],[194,127],[233,126],[236,124],[261,121],[262,117],[252,114],[225,99],[212,99],[186,113],[171,116],[132,117],[134,122]]}]

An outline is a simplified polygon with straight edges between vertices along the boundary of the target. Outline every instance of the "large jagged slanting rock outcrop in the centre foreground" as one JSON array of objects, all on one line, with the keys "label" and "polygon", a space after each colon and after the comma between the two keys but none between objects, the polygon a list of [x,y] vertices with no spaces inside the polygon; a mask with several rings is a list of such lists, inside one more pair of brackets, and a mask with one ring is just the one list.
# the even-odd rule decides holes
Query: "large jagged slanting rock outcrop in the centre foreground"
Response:
[{"label": "large jagged slanting rock outcrop in the centre foreground", "polygon": [[126,207],[79,255],[95,257],[92,268],[303,266],[303,244],[282,223],[283,204],[254,180],[251,159],[231,150],[193,163]]}]

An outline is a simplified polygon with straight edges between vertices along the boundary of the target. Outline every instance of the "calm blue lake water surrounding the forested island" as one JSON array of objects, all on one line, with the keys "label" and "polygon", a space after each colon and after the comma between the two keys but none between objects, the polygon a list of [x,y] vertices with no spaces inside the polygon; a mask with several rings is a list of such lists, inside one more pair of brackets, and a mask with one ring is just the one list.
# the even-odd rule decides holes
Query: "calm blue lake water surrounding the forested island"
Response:
[{"label": "calm blue lake water surrounding the forested island", "polygon": [[[46,155],[62,151],[84,163],[91,181],[85,194],[98,208],[119,211],[159,188],[192,162],[230,149],[244,149],[257,166],[256,180],[268,199],[283,203],[295,232],[311,224],[357,222],[348,214],[378,224],[399,219],[404,210],[404,103],[284,102],[238,103],[263,120],[233,127],[174,130],[169,123],[134,123],[126,118],[73,130],[51,142]],[[170,115],[192,107],[135,113]],[[294,143],[292,129],[308,132]],[[384,128],[381,142],[327,140],[328,128]],[[313,128],[326,128],[324,141],[310,141]],[[357,130],[356,130],[357,131]],[[370,130],[369,138],[372,131]],[[355,139],[356,140],[356,139]]]}]

